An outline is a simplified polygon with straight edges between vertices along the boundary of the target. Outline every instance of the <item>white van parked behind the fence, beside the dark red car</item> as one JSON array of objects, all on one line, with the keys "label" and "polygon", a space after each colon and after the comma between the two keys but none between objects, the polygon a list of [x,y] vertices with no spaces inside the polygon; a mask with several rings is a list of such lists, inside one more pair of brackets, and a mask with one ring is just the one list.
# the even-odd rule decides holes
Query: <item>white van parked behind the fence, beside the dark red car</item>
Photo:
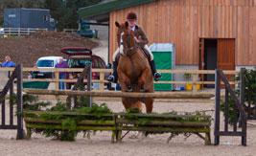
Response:
[{"label": "white van parked behind the fence, beside the dark red car", "polygon": [[[58,64],[58,60],[63,58],[62,56],[42,56],[36,61],[36,67],[39,69],[51,69],[55,68]],[[34,78],[54,78],[54,73],[52,72],[35,72],[33,74]]]}]

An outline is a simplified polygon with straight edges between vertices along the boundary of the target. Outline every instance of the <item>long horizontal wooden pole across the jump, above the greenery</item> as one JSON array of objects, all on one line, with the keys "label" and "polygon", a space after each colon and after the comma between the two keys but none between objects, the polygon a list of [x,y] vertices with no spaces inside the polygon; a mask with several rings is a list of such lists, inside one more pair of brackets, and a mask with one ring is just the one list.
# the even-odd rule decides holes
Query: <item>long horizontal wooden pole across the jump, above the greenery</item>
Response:
[{"label": "long horizontal wooden pole across the jump, above the greenery", "polygon": [[58,95],[58,96],[91,96],[105,98],[153,98],[153,99],[210,99],[214,97],[211,93],[191,92],[154,92],[154,93],[131,93],[116,91],[57,91],[57,90],[32,90],[24,89],[27,94],[35,95]]}]

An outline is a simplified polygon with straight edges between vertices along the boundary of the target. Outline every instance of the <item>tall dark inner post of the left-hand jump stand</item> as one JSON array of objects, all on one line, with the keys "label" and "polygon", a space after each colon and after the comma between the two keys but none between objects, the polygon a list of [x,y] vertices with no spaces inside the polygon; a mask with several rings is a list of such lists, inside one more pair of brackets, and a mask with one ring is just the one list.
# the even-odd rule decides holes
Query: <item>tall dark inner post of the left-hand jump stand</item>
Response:
[{"label": "tall dark inner post of the left-hand jump stand", "polygon": [[18,64],[17,76],[17,140],[23,139],[22,65]]}]

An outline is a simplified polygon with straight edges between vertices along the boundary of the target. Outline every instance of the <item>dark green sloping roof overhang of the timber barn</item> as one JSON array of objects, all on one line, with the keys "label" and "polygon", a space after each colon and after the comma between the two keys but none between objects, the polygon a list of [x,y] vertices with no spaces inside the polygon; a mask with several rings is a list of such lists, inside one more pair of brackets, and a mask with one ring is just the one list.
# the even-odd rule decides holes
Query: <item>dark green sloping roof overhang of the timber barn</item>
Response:
[{"label": "dark green sloping roof overhang of the timber barn", "polygon": [[108,21],[110,11],[118,11],[153,1],[155,0],[107,0],[93,6],[81,8],[78,13],[82,19]]}]

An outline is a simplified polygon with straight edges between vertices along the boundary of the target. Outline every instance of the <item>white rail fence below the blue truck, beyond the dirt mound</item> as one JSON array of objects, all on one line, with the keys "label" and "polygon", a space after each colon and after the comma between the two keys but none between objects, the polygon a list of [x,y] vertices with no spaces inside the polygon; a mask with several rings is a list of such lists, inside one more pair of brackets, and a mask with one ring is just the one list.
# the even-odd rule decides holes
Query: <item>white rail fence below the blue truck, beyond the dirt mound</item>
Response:
[{"label": "white rail fence below the blue truck, beyond the dirt mound", "polygon": [[30,33],[35,33],[36,31],[48,31],[48,29],[40,28],[4,28],[6,35],[29,35]]}]

